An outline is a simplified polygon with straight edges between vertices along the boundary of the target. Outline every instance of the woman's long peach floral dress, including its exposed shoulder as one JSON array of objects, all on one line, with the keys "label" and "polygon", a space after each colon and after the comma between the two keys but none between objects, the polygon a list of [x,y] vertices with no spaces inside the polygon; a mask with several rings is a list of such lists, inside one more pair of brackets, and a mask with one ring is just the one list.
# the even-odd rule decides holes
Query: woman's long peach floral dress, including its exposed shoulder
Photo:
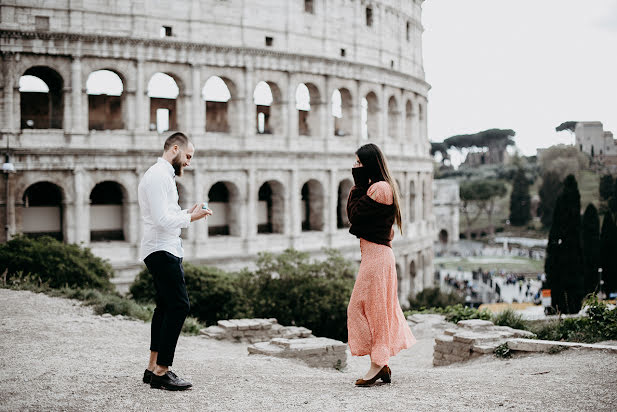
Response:
[{"label": "woman's long peach floral dress, including its exposed shoulder", "polygon": [[[394,202],[387,182],[374,183],[367,194],[382,204]],[[372,362],[383,366],[416,339],[398,301],[392,248],[360,239],[360,252],[360,270],[347,307],[349,349],[352,355],[370,355]]]}]

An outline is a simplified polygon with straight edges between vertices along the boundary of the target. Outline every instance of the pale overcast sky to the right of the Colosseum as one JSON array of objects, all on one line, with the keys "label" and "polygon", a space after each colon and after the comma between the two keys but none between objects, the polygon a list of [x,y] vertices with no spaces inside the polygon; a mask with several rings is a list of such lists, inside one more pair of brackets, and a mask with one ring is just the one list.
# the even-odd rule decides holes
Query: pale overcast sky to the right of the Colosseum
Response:
[{"label": "pale overcast sky to the right of the Colosseum", "polygon": [[431,141],[513,129],[532,155],[572,144],[568,120],[617,137],[617,0],[427,0],[422,22]]}]

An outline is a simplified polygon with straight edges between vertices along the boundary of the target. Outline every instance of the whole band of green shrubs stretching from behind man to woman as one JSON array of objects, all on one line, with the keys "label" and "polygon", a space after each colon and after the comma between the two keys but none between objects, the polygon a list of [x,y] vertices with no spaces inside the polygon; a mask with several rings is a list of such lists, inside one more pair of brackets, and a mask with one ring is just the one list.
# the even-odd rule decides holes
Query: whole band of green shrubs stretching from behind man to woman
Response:
[{"label": "whole band of green shrubs stretching from behind man to woman", "polygon": [[[262,253],[255,272],[240,273],[185,264],[191,315],[208,325],[221,319],[276,318],[282,325],[346,341],[355,267],[337,251],[327,250],[326,256],[318,262],[293,249],[277,256]],[[140,302],[154,300],[147,269],[137,276],[131,294]]]}]

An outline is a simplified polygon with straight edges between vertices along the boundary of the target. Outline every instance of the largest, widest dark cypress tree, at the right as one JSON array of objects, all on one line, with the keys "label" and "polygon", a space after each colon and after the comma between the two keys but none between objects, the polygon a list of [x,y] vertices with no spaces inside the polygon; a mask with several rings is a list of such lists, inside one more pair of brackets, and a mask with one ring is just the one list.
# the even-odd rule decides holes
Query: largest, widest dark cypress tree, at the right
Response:
[{"label": "largest, widest dark cypress tree, at the right", "polygon": [[563,183],[555,203],[553,224],[548,235],[544,262],[547,287],[553,307],[562,313],[576,313],[584,297],[581,249],[581,196],[573,175]]}]

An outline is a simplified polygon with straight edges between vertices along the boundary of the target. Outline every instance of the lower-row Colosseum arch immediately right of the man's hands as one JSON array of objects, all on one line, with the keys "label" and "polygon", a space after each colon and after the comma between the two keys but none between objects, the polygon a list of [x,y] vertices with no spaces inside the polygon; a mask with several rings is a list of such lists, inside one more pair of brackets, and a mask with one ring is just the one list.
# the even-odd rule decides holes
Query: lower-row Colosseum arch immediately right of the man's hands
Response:
[{"label": "lower-row Colosseum arch immediately right of the man's hands", "polygon": [[219,181],[208,191],[208,208],[215,213],[208,217],[210,236],[240,236],[240,192],[229,181]]}]

